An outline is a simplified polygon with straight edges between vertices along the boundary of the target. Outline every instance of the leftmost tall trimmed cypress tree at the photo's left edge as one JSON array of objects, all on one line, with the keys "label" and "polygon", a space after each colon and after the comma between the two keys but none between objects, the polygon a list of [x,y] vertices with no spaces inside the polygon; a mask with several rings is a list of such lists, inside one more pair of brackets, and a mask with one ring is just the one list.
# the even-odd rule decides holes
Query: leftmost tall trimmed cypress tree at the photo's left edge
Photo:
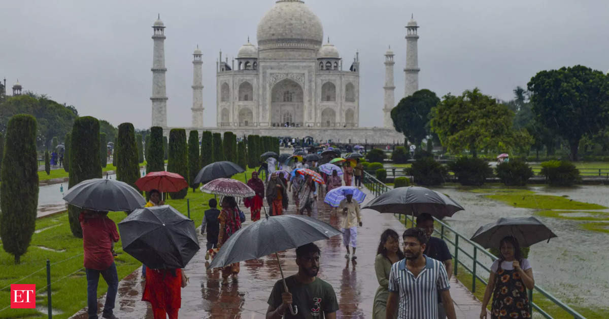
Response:
[{"label": "leftmost tall trimmed cypress tree at the photo's left edge", "polygon": [[5,252],[19,264],[27,252],[38,214],[38,160],[36,119],[13,115],[6,129],[2,185],[0,185],[0,237]]}]

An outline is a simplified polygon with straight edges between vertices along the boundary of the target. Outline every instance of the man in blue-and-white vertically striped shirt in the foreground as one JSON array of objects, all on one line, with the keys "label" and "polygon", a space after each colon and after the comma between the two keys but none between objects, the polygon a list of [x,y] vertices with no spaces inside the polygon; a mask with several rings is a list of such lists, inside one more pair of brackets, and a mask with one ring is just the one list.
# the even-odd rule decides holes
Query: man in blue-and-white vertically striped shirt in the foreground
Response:
[{"label": "man in blue-and-white vertically striped shirt in the foreground", "polygon": [[[448,275],[442,262],[423,255],[427,236],[421,228],[409,228],[402,235],[404,259],[391,266],[387,319],[437,319],[438,291],[449,319],[456,319]],[[399,306],[398,306],[399,305]]]}]

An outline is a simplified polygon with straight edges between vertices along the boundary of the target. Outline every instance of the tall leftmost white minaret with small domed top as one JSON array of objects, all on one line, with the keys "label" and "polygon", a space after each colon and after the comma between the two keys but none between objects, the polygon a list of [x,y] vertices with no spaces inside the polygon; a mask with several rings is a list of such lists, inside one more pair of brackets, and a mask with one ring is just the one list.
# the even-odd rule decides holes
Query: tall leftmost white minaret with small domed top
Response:
[{"label": "tall leftmost white minaret with small domed top", "polygon": [[165,92],[165,26],[159,15],[152,26],[152,126],[167,127],[167,94]]}]

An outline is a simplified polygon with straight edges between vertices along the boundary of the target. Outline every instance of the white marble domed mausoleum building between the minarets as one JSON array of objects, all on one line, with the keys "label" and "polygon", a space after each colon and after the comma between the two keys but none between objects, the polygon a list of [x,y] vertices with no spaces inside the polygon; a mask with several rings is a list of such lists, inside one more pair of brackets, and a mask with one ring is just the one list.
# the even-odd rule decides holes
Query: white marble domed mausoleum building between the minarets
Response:
[{"label": "white marble domed mausoleum building between the minarets", "polygon": [[217,125],[356,128],[359,60],[343,70],[322,24],[300,0],[280,0],[258,24],[258,47],[217,63]]}]

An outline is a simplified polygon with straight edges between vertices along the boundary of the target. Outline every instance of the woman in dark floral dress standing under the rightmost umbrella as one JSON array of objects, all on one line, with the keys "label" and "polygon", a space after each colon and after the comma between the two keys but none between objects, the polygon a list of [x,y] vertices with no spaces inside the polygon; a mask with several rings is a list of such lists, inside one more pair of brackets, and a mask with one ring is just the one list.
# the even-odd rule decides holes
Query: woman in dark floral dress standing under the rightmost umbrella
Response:
[{"label": "woman in dark floral dress standing under the rightmost umbrella", "polygon": [[521,256],[520,245],[513,236],[501,239],[499,252],[499,259],[491,266],[480,318],[487,318],[487,304],[491,293],[491,319],[530,318],[526,289],[533,289],[535,286],[533,269],[529,261]]}]

